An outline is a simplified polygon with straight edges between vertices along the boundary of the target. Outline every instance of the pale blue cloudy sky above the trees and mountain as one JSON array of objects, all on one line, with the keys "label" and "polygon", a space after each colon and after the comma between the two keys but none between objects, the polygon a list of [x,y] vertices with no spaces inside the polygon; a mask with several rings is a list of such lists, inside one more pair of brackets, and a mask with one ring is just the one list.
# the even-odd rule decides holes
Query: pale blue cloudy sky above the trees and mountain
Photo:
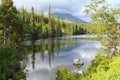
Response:
[{"label": "pale blue cloudy sky above the trees and mountain", "polygon": [[[69,13],[85,21],[89,21],[89,15],[83,13],[84,6],[90,3],[90,0],[13,0],[17,8],[24,6],[30,11],[35,8],[36,13],[42,10],[47,13],[48,6],[51,5],[52,12]],[[112,7],[120,7],[120,0],[108,0]]]}]

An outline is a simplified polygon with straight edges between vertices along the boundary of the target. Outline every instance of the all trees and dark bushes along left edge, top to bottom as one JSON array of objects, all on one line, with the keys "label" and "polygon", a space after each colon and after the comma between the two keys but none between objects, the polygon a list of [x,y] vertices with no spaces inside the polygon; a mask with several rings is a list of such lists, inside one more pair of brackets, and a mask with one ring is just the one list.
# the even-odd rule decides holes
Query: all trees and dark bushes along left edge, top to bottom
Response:
[{"label": "all trees and dark bushes along left edge, top to bottom", "polygon": [[[12,0],[0,4],[0,80],[25,80],[20,61],[23,51],[20,42],[24,38],[23,21],[17,17]],[[20,50],[21,49],[21,50]]]}]

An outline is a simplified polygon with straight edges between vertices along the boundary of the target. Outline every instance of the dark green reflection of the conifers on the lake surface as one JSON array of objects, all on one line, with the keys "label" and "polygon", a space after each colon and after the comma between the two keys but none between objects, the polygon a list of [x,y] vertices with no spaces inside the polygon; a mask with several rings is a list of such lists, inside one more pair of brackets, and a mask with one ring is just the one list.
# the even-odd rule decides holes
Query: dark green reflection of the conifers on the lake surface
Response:
[{"label": "dark green reflection of the conifers on the lake surface", "polygon": [[32,68],[35,68],[35,54],[40,53],[41,60],[45,59],[45,52],[47,51],[48,55],[48,63],[51,68],[51,61],[54,59],[54,56],[59,56],[59,52],[61,48],[66,48],[69,46],[76,46],[77,41],[75,38],[49,38],[49,39],[41,39],[37,41],[31,41],[29,45],[26,45],[27,53],[31,54],[31,64]]}]

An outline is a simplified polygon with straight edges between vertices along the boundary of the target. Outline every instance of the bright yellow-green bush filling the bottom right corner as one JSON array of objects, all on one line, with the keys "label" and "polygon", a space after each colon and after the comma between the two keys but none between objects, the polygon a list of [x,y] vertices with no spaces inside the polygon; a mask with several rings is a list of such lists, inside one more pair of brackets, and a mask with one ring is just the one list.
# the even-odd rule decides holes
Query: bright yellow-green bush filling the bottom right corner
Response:
[{"label": "bright yellow-green bush filling the bottom right corner", "polygon": [[[100,59],[101,58],[101,59]],[[83,80],[119,80],[120,79],[120,56],[97,57],[86,69]],[[97,64],[95,63],[98,62]]]}]

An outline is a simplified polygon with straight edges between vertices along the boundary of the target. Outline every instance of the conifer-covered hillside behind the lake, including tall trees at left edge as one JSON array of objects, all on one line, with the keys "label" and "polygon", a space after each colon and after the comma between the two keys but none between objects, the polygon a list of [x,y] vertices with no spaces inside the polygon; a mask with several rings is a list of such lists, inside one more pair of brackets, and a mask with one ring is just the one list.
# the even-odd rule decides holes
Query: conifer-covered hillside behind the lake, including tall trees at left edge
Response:
[{"label": "conifer-covered hillside behind the lake, including tall trees at left edge", "polygon": [[6,44],[6,42],[10,41],[22,41],[23,39],[20,38],[24,38],[24,40],[37,40],[40,38],[86,33],[81,24],[53,18],[50,7],[48,10],[48,17],[46,17],[44,12],[40,12],[40,14],[34,13],[33,7],[31,12],[27,12],[24,7],[17,10],[13,6],[12,1],[2,3],[0,6],[0,42],[4,41],[4,44]]}]

